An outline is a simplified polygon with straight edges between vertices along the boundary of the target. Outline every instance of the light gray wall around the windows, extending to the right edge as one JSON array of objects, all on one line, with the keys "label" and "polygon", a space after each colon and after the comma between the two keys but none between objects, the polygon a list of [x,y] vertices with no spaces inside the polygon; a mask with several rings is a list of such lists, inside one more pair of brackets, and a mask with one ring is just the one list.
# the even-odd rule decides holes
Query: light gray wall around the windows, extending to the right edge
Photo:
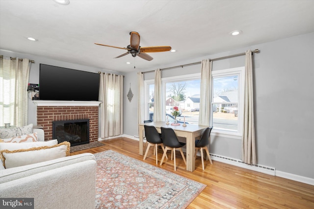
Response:
[{"label": "light gray wall around the windows, extending to the right edge", "polygon": [[[184,60],[160,68],[173,67],[202,59],[216,58],[260,49],[254,59],[255,130],[258,164],[290,174],[314,178],[314,33],[255,46],[247,46],[197,59]],[[244,66],[245,57],[213,62],[213,70]],[[155,69],[147,69],[155,70]],[[201,66],[163,70],[162,76],[200,72]],[[126,74],[125,93],[131,89],[132,102],[124,102],[124,134],[138,136],[137,71]],[[146,73],[145,79],[153,79]],[[125,97],[126,98],[126,97]],[[210,152],[241,158],[241,140],[211,139]]]}]

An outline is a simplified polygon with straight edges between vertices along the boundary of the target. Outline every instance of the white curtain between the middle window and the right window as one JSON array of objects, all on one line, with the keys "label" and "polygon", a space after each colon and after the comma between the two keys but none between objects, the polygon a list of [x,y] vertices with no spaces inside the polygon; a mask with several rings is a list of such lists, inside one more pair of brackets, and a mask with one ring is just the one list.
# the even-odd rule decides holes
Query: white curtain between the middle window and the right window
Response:
[{"label": "white curtain between the middle window and the right window", "polygon": [[209,126],[211,105],[211,69],[212,61],[202,60],[200,113],[198,124]]}]

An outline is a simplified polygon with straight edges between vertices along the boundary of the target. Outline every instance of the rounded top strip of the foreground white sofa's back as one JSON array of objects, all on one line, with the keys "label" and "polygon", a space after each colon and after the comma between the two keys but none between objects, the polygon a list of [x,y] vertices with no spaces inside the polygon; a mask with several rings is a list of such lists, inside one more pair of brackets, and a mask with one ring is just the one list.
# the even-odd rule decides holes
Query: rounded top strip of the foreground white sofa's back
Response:
[{"label": "rounded top strip of the foreground white sofa's back", "polygon": [[57,158],[51,161],[45,161],[41,163],[34,163],[19,167],[8,168],[0,170],[0,184],[5,182],[14,181],[27,176],[31,176],[37,173],[42,173],[55,168],[68,166],[83,161],[95,160],[95,156],[91,153],[82,153],[78,155]]}]

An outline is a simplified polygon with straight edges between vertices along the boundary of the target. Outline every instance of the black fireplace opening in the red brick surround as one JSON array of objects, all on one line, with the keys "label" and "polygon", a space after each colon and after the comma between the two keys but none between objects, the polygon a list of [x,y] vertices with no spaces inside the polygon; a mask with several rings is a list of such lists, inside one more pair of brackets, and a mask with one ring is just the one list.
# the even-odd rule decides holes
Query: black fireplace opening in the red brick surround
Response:
[{"label": "black fireplace opening in the red brick surround", "polygon": [[52,139],[71,146],[89,143],[89,119],[52,121]]}]

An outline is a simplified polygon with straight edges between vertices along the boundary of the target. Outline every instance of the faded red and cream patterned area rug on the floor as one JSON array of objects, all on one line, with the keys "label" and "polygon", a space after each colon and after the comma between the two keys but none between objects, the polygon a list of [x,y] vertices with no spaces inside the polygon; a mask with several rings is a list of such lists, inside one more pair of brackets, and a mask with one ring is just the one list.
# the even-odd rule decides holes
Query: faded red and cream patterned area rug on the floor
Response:
[{"label": "faded red and cream patterned area rug on the floor", "polygon": [[112,150],[95,157],[96,209],[184,209],[206,187]]}]

